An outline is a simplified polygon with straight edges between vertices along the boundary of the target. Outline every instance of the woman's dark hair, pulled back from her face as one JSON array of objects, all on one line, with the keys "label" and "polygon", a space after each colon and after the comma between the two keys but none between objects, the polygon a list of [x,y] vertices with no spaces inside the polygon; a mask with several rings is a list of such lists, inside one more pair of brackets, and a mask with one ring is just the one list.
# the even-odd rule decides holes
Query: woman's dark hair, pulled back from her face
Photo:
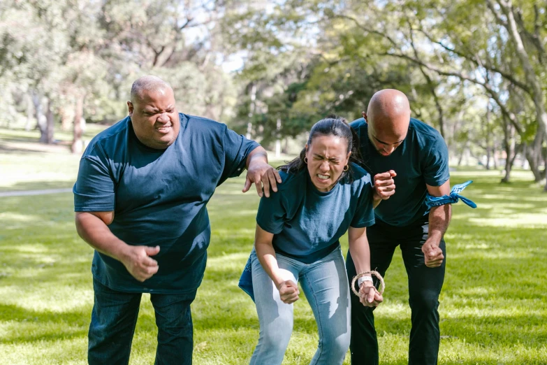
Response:
[{"label": "woman's dark hair, pulled back from her face", "polygon": [[[337,117],[335,115],[329,115],[325,119],[319,120],[316,122],[312,129],[309,131],[309,138],[307,140],[307,145],[311,145],[312,141],[316,136],[335,136],[343,138],[348,144],[347,152],[351,152],[349,156],[349,162],[354,162],[356,164],[363,164],[359,152],[359,136],[353,128],[349,127],[347,120],[342,117]],[[300,155],[293,159],[291,162],[277,167],[278,170],[286,171],[288,173],[297,173],[302,169],[305,169],[306,162],[304,158],[306,157],[306,148],[300,151]],[[349,183],[353,181],[353,176],[351,174],[351,169],[342,172],[339,180],[343,178],[349,178]]]}]

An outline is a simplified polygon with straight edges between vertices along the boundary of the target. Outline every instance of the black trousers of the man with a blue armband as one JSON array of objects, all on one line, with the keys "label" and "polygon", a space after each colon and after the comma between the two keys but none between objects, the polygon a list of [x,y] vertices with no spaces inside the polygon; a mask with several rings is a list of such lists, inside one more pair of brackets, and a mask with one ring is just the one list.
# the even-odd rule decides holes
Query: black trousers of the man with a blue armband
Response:
[{"label": "black trousers of the man with a blue armband", "polygon": [[[425,220],[425,221],[424,221]],[[439,294],[444,281],[446,246],[444,240],[439,247],[445,259],[442,266],[425,266],[421,247],[428,238],[428,217],[407,227],[393,227],[384,222],[367,228],[370,245],[370,267],[382,276],[393,259],[395,248],[400,245],[404,267],[407,269],[409,283],[409,304],[411,309],[409,365],[437,364],[439,353]],[[347,255],[346,269],[349,282],[356,275],[356,269]],[[387,286],[389,281],[386,280]],[[378,282],[376,282],[378,285]],[[351,364],[377,365],[378,341],[374,329],[372,308],[359,303],[356,295],[351,295]]]}]

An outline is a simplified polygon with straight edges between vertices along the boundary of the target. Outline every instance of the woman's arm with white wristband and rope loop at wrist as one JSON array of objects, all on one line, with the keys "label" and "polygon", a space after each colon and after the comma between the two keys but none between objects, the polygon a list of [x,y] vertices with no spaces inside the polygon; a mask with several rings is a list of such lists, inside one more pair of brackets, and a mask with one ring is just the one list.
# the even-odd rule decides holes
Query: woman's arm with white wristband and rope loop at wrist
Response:
[{"label": "woman's arm with white wristband and rope loop at wrist", "polygon": [[[355,264],[356,273],[370,271],[370,249],[367,240],[367,228],[349,227],[348,242],[349,253]],[[376,307],[379,303],[384,301],[381,294],[374,289],[374,283],[372,281],[363,281],[363,284],[359,287],[359,292],[361,294],[366,294],[360,298],[360,302],[363,303],[363,306]]]}]

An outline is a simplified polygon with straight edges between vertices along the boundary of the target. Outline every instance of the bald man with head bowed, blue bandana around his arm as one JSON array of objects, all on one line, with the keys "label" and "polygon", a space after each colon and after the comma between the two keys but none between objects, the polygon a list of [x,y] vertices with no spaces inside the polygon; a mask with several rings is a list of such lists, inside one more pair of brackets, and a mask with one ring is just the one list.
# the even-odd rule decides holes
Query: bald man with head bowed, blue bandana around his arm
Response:
[{"label": "bald man with head bowed, blue bandana around his arm", "polygon": [[[381,90],[363,118],[351,123],[360,137],[365,166],[374,176],[376,224],[367,229],[370,267],[385,275],[397,246],[407,269],[411,308],[409,364],[437,364],[439,294],[451,206],[428,209],[425,196],[450,193],[448,149],[439,132],[410,117],[407,96]],[[397,189],[395,189],[395,186]],[[348,252],[347,273],[356,275]],[[372,280],[372,279],[370,279]],[[374,308],[352,296],[351,364],[378,364]]]}]

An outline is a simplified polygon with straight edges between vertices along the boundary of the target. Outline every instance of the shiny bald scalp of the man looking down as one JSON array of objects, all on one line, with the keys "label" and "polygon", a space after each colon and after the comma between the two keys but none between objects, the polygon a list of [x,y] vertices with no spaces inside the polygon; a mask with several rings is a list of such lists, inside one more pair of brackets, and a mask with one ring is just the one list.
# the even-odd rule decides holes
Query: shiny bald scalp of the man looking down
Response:
[{"label": "shiny bald scalp of the man looking down", "polygon": [[373,127],[402,132],[408,129],[410,122],[409,99],[399,90],[380,90],[370,99],[367,116]]}]

